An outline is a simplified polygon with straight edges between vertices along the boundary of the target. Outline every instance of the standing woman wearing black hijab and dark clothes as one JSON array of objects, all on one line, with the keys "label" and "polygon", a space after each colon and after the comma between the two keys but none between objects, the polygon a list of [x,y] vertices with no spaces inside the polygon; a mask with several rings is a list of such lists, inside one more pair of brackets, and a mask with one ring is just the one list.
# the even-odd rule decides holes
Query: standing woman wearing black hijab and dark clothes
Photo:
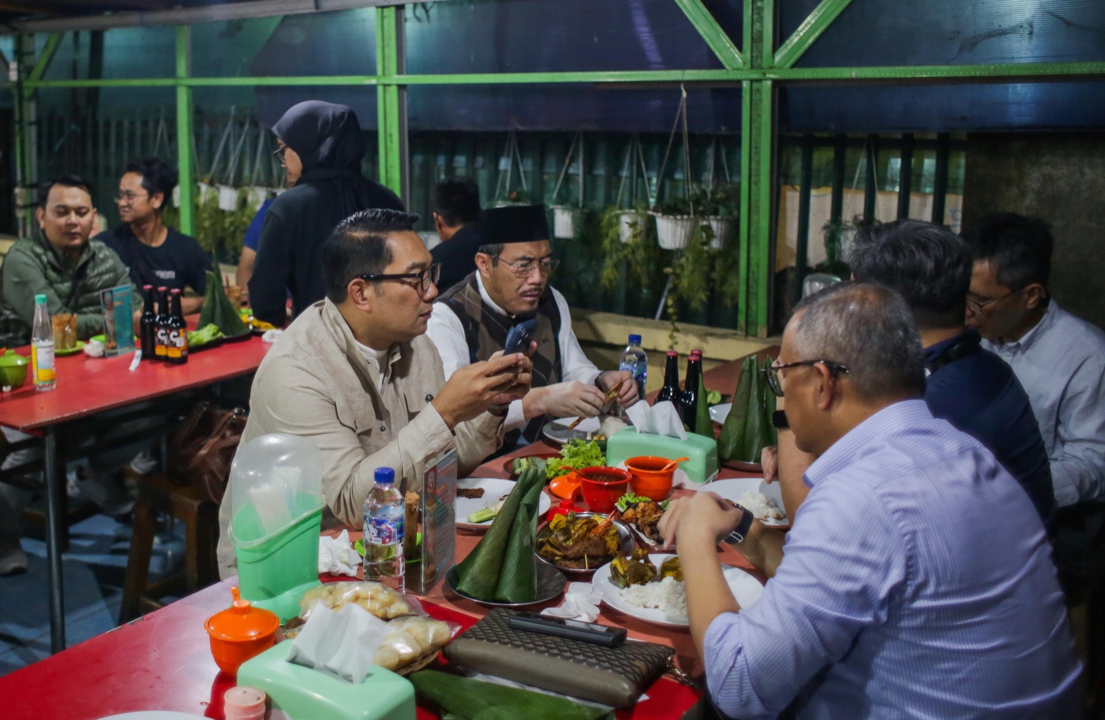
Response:
[{"label": "standing woman wearing black hijab and dark clothes", "polygon": [[345,105],[307,101],[273,126],[295,187],[265,215],[250,279],[253,315],[284,325],[287,294],[292,316],[325,295],[319,251],[330,231],[359,210],[403,210],[394,192],[360,174],[365,138],[357,115]]}]

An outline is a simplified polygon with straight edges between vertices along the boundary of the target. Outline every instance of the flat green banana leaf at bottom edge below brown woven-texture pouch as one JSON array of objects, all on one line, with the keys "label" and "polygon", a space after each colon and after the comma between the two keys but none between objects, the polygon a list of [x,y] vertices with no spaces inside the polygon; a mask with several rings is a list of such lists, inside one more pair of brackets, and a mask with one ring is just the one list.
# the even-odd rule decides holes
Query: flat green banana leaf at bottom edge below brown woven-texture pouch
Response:
[{"label": "flat green banana leaf at bottom edge below brown woven-texture pouch", "polygon": [[[586,670],[585,670],[586,671]],[[493,682],[420,670],[410,676],[420,696],[442,710],[442,717],[462,720],[604,720],[613,713],[579,705],[565,698],[543,695]]]}]

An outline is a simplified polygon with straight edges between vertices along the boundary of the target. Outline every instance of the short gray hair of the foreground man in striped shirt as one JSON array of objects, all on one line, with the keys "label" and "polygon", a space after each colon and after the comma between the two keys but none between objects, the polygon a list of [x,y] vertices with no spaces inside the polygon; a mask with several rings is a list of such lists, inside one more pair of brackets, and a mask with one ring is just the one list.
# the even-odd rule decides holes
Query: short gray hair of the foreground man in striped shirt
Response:
[{"label": "short gray hair of the foreground man in striped shirt", "polygon": [[794,306],[794,352],[845,365],[860,397],[925,394],[925,361],[909,306],[874,282],[842,282]]}]

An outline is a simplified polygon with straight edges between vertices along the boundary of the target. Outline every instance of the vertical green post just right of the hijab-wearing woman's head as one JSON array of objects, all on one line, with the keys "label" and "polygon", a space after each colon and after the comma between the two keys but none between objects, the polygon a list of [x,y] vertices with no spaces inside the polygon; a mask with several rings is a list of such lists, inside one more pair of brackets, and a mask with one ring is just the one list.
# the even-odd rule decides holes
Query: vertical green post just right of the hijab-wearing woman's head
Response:
[{"label": "vertical green post just right of the hijab-wearing woman's head", "polygon": [[[376,9],[376,74],[402,75],[407,71],[403,52],[403,8]],[[407,187],[407,87],[381,84],[376,90],[379,137],[380,182],[404,201]]]}]

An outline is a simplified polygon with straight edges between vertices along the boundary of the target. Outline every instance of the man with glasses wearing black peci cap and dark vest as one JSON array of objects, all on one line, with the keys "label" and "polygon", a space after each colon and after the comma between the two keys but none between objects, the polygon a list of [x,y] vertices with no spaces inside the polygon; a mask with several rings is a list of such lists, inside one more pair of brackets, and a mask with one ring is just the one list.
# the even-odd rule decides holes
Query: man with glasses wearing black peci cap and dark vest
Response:
[{"label": "man with glasses wearing black peci cap and dark vest", "polygon": [[[629,373],[602,373],[583,355],[571,331],[568,303],[548,284],[552,259],[545,206],[493,208],[480,213],[476,271],[434,302],[428,334],[448,378],[460,367],[504,349],[516,324],[536,317],[533,389],[511,404],[503,447],[536,440],[546,418],[594,417],[606,393]],[[638,400],[636,384],[622,383],[618,404]]]}]

